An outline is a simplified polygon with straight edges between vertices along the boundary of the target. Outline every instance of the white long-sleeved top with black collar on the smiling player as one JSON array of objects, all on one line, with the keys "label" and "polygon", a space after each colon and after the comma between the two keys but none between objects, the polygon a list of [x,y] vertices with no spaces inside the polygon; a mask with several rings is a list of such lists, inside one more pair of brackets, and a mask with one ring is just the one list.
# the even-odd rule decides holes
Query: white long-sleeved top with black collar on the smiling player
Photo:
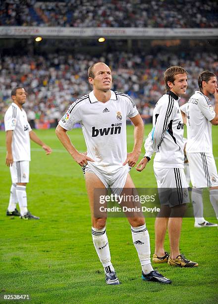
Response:
[{"label": "white long-sleeved top with black collar on the smiling player", "polygon": [[153,129],[145,141],[145,155],[154,158],[154,168],[184,168],[183,121],[179,97],[171,91],[156,103]]}]

